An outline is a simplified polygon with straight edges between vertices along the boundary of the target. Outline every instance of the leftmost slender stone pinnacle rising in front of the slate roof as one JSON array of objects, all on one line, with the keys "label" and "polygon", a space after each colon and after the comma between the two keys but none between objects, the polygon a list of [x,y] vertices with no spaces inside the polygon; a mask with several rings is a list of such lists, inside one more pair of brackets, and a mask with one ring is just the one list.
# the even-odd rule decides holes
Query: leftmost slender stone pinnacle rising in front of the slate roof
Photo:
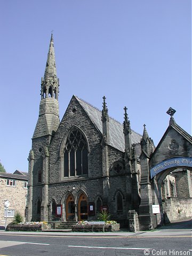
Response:
[{"label": "leftmost slender stone pinnacle rising in front of the slate roof", "polygon": [[108,143],[109,142],[109,115],[108,115],[105,96],[103,96],[103,109],[102,109],[101,121],[102,121],[103,137],[106,143]]}]

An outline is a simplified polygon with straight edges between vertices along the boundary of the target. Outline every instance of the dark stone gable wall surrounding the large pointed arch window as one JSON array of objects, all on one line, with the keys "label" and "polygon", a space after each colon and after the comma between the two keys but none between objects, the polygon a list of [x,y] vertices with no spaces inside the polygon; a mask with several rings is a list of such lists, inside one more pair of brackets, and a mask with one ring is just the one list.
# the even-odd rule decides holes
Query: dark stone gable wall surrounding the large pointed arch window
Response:
[{"label": "dark stone gable wall surrounding the large pointed arch window", "polygon": [[[72,111],[76,109],[76,111]],[[50,146],[49,182],[59,182],[63,179],[61,173],[60,149],[63,138],[67,135],[71,126],[75,125],[85,133],[90,146],[89,177],[96,178],[102,175],[101,134],[87,117],[85,111],[75,98],[72,98],[65,115],[59,125],[58,131]],[[63,149],[62,149],[63,150]]]}]

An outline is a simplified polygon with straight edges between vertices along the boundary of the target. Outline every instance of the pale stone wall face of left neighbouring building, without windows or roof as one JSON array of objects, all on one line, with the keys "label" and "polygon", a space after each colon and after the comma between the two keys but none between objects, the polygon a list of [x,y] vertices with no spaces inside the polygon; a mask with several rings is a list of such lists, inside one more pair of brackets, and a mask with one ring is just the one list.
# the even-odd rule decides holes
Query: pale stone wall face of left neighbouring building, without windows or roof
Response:
[{"label": "pale stone wall face of left neighbouring building, without windows or roof", "polygon": [[[24,188],[24,180],[16,180],[16,187],[6,186],[6,178],[0,178],[0,226],[5,226],[4,204],[5,200],[10,202],[8,210],[20,212],[25,217],[27,188]],[[7,217],[7,223],[14,218]],[[25,218],[24,218],[25,220]]]}]

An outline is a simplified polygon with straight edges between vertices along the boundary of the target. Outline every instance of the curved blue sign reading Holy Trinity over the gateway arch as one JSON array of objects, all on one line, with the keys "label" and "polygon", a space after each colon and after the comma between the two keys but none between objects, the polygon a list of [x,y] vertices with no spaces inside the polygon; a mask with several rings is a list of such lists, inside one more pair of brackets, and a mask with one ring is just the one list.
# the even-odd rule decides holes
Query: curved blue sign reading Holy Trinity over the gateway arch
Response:
[{"label": "curved blue sign reading Holy Trinity over the gateway arch", "polygon": [[179,166],[192,167],[192,158],[191,157],[173,157],[170,159],[166,159],[165,161],[155,165],[153,168],[150,169],[150,177],[152,179],[159,172],[162,172],[171,167],[179,167]]}]

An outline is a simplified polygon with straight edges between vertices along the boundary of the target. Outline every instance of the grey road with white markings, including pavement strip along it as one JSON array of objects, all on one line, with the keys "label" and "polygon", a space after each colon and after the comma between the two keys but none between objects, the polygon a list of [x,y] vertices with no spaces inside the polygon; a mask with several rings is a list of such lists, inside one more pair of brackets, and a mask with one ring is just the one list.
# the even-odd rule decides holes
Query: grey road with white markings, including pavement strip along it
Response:
[{"label": "grey road with white markings, including pavement strip along it", "polygon": [[[191,223],[191,222],[190,222]],[[189,224],[189,222],[187,223]],[[0,232],[0,255],[192,255],[189,225],[113,233]]]}]

